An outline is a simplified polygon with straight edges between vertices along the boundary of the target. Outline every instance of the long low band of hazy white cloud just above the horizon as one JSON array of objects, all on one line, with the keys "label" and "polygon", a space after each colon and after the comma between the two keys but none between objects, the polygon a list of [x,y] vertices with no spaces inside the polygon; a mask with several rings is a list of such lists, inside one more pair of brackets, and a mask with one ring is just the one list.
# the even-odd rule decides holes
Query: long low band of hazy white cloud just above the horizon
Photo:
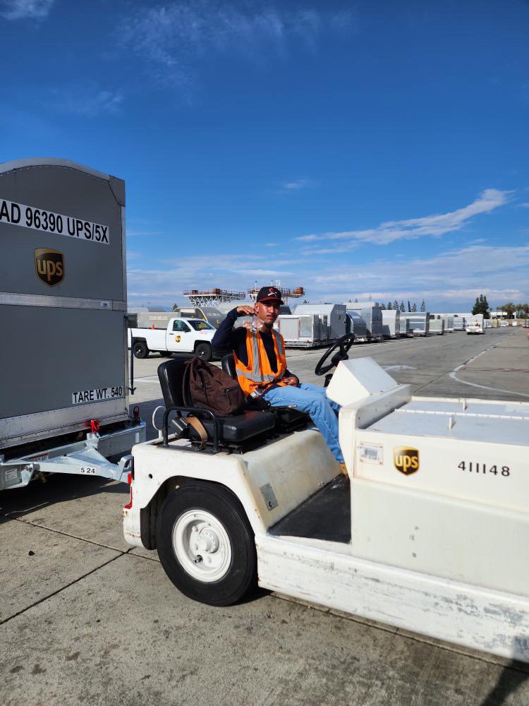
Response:
[{"label": "long low band of hazy white cloud just above the horizon", "polygon": [[[367,263],[336,263],[310,260],[281,261],[285,270],[275,270],[275,258],[259,255],[213,254],[189,256],[169,261],[158,268],[128,270],[128,294],[159,304],[183,301],[184,289],[222,287],[245,291],[255,279],[258,285],[281,280],[285,286],[304,286],[310,301],[348,301],[367,299],[387,302],[410,299],[437,311],[456,308],[464,311],[475,297],[486,294],[492,306],[505,301],[529,300],[529,245],[495,247],[466,246],[432,258],[386,258]],[[138,262],[138,260],[135,260]],[[270,266],[271,265],[271,266]],[[444,302],[444,304],[443,304]]]}]

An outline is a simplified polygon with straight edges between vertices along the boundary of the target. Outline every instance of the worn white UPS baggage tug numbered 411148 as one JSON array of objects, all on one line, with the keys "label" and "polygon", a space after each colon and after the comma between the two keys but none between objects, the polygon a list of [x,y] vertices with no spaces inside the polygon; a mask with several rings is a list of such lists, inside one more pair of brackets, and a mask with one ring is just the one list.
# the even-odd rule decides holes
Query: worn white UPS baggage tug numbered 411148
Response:
[{"label": "worn white UPS baggage tug numbered 411148", "polygon": [[347,360],[351,342],[317,366],[337,364],[350,481],[318,431],[285,431],[292,410],[203,419],[193,450],[168,433],[189,409],[181,362],[162,364],[163,438],[133,448],[127,541],[201,602],[257,582],[529,662],[529,404],[412,397],[372,359]]}]

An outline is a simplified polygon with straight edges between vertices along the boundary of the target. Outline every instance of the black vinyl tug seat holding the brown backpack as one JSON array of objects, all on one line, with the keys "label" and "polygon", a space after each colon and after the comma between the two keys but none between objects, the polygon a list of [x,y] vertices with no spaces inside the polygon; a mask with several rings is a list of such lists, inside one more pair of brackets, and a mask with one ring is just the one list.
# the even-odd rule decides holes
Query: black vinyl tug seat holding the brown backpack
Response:
[{"label": "black vinyl tug seat holding the brown backpack", "polygon": [[[184,416],[193,407],[188,391],[183,390],[185,363],[186,361],[182,359],[172,358],[158,366],[158,378],[166,409],[179,408]],[[211,440],[214,436],[214,419],[207,414],[202,416],[199,412],[193,412],[193,416],[200,416],[200,421]],[[241,445],[249,439],[267,435],[276,424],[276,418],[272,412],[243,412],[243,414],[233,414],[231,417],[215,415],[215,419],[219,425],[221,445]],[[192,433],[195,432],[192,431]]]}]

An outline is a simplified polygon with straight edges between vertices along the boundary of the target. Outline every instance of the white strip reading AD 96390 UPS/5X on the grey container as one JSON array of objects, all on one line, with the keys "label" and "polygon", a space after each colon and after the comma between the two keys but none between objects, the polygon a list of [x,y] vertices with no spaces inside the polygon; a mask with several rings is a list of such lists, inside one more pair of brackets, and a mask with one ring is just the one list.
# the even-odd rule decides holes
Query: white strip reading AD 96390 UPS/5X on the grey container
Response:
[{"label": "white strip reading AD 96390 UPS/5X on the grey container", "polygon": [[107,225],[65,216],[23,203],[6,201],[2,198],[0,198],[0,223],[9,223],[54,235],[66,235],[66,237],[89,240],[93,243],[108,245],[110,242],[110,232]]}]

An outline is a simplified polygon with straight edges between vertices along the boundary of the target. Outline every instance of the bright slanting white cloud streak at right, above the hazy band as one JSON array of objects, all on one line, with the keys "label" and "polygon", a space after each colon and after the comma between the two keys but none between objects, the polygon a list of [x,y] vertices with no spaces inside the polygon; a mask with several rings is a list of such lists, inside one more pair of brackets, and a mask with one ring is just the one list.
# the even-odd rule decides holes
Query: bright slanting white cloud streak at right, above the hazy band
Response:
[{"label": "bright slanting white cloud streak at right, above the hazy band", "polygon": [[509,202],[511,193],[511,191],[485,189],[473,203],[449,213],[410,218],[408,220],[387,221],[375,228],[365,230],[304,235],[296,238],[296,240],[308,243],[339,241],[339,244],[327,246],[324,249],[309,247],[304,251],[306,255],[322,255],[350,251],[355,249],[359,243],[387,245],[401,239],[413,240],[423,236],[441,237],[445,233],[460,230],[470,218],[481,213],[490,213],[495,208],[505,205]]}]

